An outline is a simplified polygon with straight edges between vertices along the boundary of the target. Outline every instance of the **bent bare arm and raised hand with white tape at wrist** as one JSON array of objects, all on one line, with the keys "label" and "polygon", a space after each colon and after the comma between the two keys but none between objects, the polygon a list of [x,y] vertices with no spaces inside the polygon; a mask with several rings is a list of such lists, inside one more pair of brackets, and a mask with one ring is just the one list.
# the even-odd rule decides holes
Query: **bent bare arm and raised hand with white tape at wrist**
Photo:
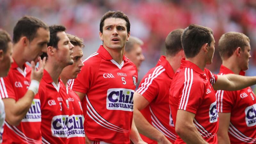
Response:
[{"label": "bent bare arm and raised hand with white tape at wrist", "polygon": [[[43,60],[39,60],[39,69],[35,70],[35,62],[31,62],[31,81],[36,80],[38,82],[41,81],[44,73],[44,65],[45,58]],[[38,89],[38,88],[37,88]],[[21,120],[27,114],[29,108],[31,107],[31,103],[35,97],[35,93],[31,90],[28,90],[25,95],[15,101],[12,98],[3,99],[4,107],[5,107],[5,119],[11,125],[19,125]]]}]

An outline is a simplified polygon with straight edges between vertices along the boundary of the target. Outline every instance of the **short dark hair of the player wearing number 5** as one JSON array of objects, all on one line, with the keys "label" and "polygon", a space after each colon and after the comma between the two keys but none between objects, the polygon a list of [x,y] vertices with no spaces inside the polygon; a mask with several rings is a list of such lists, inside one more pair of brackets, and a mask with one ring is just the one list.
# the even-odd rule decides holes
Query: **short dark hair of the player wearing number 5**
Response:
[{"label": "short dark hair of the player wearing number 5", "polygon": [[106,12],[101,20],[100,20],[100,32],[103,32],[103,26],[104,26],[104,21],[108,18],[120,18],[120,19],[124,19],[126,21],[126,28],[127,28],[127,33],[130,32],[130,21],[129,18],[127,17],[127,15],[124,14],[124,12],[121,11],[108,11]]}]

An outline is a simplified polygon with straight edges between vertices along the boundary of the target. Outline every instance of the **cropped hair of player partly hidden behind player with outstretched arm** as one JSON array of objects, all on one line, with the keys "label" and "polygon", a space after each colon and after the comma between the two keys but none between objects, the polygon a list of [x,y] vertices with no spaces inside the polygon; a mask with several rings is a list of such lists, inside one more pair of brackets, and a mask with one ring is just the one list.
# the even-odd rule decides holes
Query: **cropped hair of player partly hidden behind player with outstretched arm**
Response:
[{"label": "cropped hair of player partly hidden behind player with outstretched arm", "polygon": [[175,56],[182,50],[181,35],[183,31],[184,29],[175,29],[168,34],[165,39],[166,55]]}]

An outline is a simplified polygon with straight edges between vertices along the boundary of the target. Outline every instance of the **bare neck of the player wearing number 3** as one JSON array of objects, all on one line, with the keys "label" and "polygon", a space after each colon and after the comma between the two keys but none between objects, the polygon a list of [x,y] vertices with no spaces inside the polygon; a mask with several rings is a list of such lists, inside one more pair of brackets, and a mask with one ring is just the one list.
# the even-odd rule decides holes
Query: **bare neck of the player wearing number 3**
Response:
[{"label": "bare neck of the player wearing number 3", "polygon": [[59,82],[58,80],[59,80],[60,74],[63,70],[63,67],[59,66],[54,61],[47,60],[44,69],[50,74],[53,82],[56,85],[58,85],[58,82]]}]

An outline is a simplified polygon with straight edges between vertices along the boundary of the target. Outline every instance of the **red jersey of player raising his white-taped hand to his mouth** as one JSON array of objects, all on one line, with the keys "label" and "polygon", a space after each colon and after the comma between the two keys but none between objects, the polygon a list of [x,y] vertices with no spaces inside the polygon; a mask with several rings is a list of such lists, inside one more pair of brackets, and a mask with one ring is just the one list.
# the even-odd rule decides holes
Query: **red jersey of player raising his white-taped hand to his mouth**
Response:
[{"label": "red jersey of player raising his white-taped hand to his mouth", "polygon": [[[8,76],[1,77],[0,91],[2,99],[11,98],[15,101],[21,99],[30,85],[31,68],[24,64],[22,71],[14,61]],[[5,121],[3,143],[41,143],[41,109],[40,100],[36,95],[31,108],[18,126],[12,126]]]}]

